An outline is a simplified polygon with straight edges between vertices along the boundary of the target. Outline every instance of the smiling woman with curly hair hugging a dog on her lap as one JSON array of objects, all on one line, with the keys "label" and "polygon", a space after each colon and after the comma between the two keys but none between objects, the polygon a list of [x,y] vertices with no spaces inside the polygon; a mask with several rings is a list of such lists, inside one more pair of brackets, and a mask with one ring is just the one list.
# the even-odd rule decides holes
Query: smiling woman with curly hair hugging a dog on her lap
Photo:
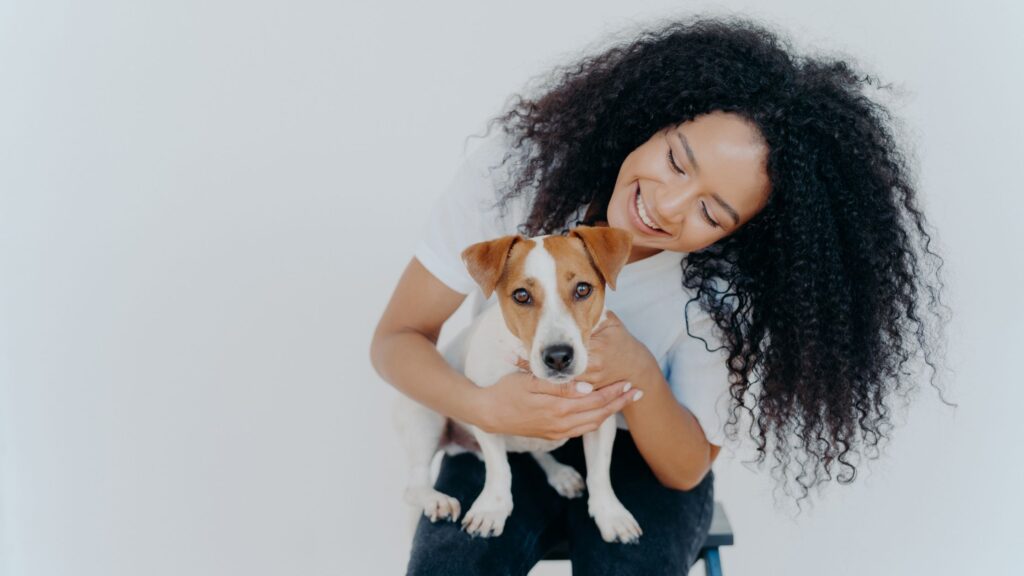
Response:
[{"label": "smiling woman with curly hair hugging a dog on her lap", "polygon": [[[912,384],[908,361],[920,355],[934,379],[943,307],[941,259],[891,119],[864,93],[871,84],[844,61],[793,54],[757,25],[701,18],[587,57],[493,121],[506,136],[435,208],[446,220],[432,222],[402,275],[374,366],[424,405],[494,433],[571,438],[621,413],[629,431],[616,438],[612,484],[644,534],[638,545],[605,543],[585,499],[558,497],[531,461],[510,455],[505,535],[471,539],[421,519],[411,574],[525,574],[565,538],[574,573],[684,574],[708,531],[711,465],[744,411],[758,462],[770,452],[783,481],[796,462],[802,498],[834,472],[851,482],[858,457],[878,454],[890,404]],[[505,170],[481,178],[495,150]],[[476,211],[494,191],[498,211]],[[638,337],[647,322],[609,300],[622,321],[594,336],[600,369],[579,378],[593,392],[525,373],[479,388],[447,367],[434,344],[472,290],[455,270],[460,247],[581,221],[631,233],[624,274],[671,260],[673,293],[689,305],[645,307],[664,308],[650,322],[671,318],[684,336],[668,349]],[[554,454],[583,471],[580,451],[573,440]],[[481,486],[473,456],[444,458],[438,490],[465,506]]]}]

